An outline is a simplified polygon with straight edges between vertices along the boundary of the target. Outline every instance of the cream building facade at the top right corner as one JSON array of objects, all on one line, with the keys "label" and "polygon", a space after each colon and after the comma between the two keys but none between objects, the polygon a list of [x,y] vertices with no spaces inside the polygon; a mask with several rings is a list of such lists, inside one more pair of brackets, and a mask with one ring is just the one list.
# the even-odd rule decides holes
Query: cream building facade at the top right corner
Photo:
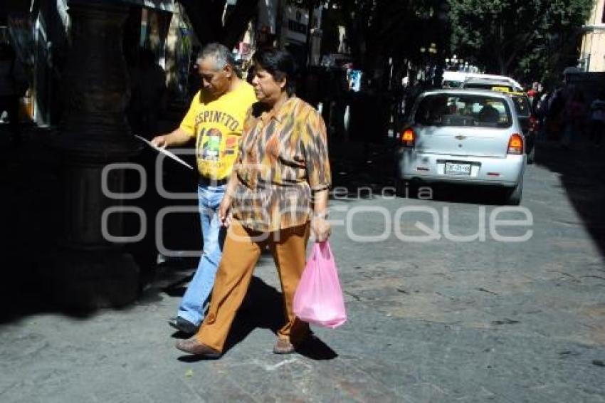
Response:
[{"label": "cream building facade at the top right corner", "polygon": [[584,71],[605,71],[605,0],[594,1],[584,37],[579,67]]}]

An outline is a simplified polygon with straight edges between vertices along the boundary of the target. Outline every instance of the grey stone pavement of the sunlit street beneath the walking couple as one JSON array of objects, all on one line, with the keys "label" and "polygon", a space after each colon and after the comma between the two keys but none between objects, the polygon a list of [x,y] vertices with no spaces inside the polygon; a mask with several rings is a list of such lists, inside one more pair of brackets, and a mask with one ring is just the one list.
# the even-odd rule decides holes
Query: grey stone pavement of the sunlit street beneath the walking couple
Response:
[{"label": "grey stone pavement of the sunlit street beneath the walking couple", "polygon": [[[182,292],[174,277],[188,272],[162,272],[172,278],[129,308],[81,317],[49,310],[1,325],[0,401],[605,402],[603,171],[586,155],[568,167],[544,147],[528,167],[522,205],[533,225],[503,231],[532,229],[522,243],[497,242],[489,229],[485,241],[402,242],[394,224],[385,227],[401,206],[431,206],[441,222],[448,207],[451,232],[473,234],[496,208],[480,192],[332,201],[332,219],[348,216],[349,233],[388,234],[362,243],[335,228],[349,320],[315,328],[321,342],[303,354],[270,352],[281,301],[263,256],[220,360],[174,349],[166,320]],[[341,182],[373,182],[380,171],[358,168],[358,182]],[[382,213],[352,210],[367,206]],[[404,214],[398,228],[423,234],[415,224],[430,217]]]}]

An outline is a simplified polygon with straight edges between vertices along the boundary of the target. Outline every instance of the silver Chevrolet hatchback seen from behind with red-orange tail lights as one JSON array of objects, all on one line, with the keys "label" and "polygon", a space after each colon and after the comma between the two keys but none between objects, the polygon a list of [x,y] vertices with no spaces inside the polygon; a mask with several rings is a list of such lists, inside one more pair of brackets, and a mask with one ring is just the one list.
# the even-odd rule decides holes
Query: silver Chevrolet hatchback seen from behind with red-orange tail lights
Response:
[{"label": "silver Chevrolet hatchback seen from behind with red-orange tail lights", "polygon": [[491,90],[422,93],[401,132],[396,184],[488,185],[521,201],[525,137],[510,96]]}]

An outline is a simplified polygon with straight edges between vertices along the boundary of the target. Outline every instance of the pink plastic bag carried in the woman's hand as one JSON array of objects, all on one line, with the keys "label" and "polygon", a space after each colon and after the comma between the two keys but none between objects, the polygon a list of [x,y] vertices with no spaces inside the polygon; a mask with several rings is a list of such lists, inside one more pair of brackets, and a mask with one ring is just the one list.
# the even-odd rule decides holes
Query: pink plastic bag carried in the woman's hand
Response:
[{"label": "pink plastic bag carried in the woman's hand", "polygon": [[303,322],[337,328],[347,320],[330,244],[315,243],[294,294],[294,314]]}]

